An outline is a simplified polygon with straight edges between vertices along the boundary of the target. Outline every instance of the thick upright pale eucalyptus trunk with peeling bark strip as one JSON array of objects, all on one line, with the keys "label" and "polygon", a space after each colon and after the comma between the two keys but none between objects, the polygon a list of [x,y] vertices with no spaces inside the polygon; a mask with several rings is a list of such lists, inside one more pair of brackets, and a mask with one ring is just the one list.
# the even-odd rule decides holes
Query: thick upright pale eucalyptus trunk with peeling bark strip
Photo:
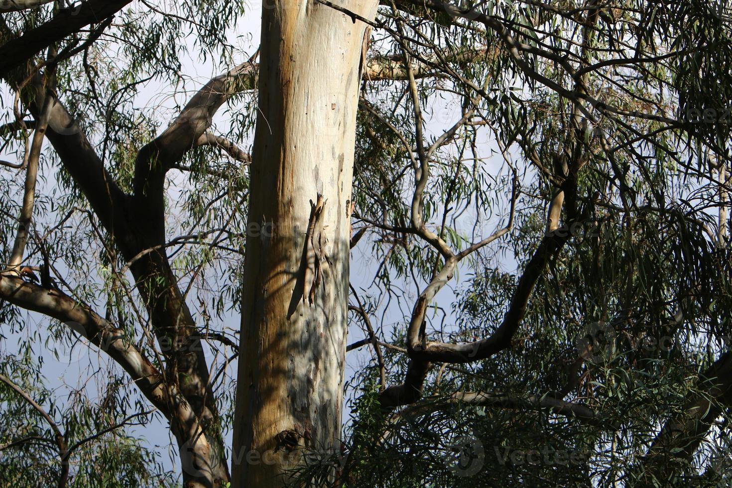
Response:
[{"label": "thick upright pale eucalyptus trunk with peeling bark strip", "polygon": [[[376,4],[340,5],[373,18]],[[351,179],[365,28],[313,0],[276,1],[262,11],[235,487],[281,486],[288,482],[285,470],[302,465],[303,454],[340,449]]]}]

